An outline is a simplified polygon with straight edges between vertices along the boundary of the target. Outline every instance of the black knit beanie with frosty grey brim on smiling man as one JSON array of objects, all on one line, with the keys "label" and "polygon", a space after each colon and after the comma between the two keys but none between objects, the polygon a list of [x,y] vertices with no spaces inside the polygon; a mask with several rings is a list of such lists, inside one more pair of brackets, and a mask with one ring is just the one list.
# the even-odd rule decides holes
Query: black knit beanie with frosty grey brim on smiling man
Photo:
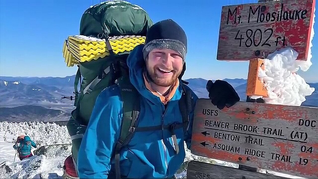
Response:
[{"label": "black knit beanie with frosty grey brim on smiling man", "polygon": [[187,54],[187,36],[183,29],[173,20],[167,19],[152,25],[146,35],[142,49],[146,60],[149,52],[155,48],[168,48],[178,52],[183,62]]}]

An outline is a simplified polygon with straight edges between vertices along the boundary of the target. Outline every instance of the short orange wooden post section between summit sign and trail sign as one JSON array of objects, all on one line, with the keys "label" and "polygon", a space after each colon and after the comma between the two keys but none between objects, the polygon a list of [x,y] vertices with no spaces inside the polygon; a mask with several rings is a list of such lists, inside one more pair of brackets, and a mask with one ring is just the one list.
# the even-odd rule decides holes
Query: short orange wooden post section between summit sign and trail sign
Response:
[{"label": "short orange wooden post section between summit sign and trail sign", "polygon": [[264,87],[264,82],[259,80],[259,68],[265,69],[264,60],[262,59],[252,59],[248,67],[247,75],[247,87],[246,95],[247,96],[264,96],[268,97],[267,90]]}]

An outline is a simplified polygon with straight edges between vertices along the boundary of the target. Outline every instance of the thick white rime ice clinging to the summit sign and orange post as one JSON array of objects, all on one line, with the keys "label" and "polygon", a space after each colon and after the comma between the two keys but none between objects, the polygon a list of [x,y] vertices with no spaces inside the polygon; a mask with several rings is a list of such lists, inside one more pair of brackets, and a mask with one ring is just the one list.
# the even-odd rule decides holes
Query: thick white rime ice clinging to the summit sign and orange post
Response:
[{"label": "thick white rime ice clinging to the summit sign and orange post", "polygon": [[313,26],[310,34],[310,44],[307,61],[297,60],[298,52],[292,47],[283,48],[269,54],[264,59],[265,70],[259,68],[259,79],[265,82],[268,97],[252,96],[251,98],[263,98],[268,104],[283,104],[300,106],[306,100],[306,96],[312,95],[315,88],[297,74],[297,71],[307,71],[312,65],[311,47],[314,37],[315,8]]}]

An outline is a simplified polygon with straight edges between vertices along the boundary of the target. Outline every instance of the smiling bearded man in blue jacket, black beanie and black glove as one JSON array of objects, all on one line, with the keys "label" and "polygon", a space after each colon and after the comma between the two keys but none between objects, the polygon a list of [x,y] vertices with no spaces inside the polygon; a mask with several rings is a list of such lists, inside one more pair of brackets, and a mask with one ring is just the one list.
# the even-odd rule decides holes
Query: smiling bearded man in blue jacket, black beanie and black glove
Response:
[{"label": "smiling bearded man in blue jacket, black beanie and black glove", "polygon": [[[179,103],[183,92],[181,79],[187,53],[187,37],[173,20],[163,20],[148,31],[146,42],[128,56],[130,82],[140,94],[138,127],[182,124]],[[223,109],[239,101],[227,82],[209,81],[207,89],[212,103]],[[215,94],[211,94],[211,91]],[[197,96],[191,90],[193,101]],[[96,99],[87,130],[79,148],[80,178],[172,178],[185,157],[183,142],[190,148],[194,106],[190,112],[189,130],[174,129],[135,132],[120,151],[116,168],[115,144],[122,124],[120,88],[104,89]]]}]

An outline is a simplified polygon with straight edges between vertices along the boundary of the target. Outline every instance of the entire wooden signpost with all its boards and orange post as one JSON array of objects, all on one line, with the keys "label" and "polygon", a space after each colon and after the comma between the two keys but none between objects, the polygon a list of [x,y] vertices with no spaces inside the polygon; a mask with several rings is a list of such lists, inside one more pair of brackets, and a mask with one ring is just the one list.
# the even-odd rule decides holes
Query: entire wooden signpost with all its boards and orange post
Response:
[{"label": "entire wooden signpost with all its boards and orange post", "polygon": [[297,60],[307,60],[315,0],[259,2],[223,6],[221,15],[217,59],[250,61],[247,102],[218,110],[209,99],[199,99],[191,144],[193,154],[237,163],[247,171],[241,175],[243,170],[192,161],[188,178],[268,178],[257,168],[318,177],[318,108],[253,103],[249,98],[267,96],[258,73],[266,68],[268,54],[292,47],[299,53]]}]

